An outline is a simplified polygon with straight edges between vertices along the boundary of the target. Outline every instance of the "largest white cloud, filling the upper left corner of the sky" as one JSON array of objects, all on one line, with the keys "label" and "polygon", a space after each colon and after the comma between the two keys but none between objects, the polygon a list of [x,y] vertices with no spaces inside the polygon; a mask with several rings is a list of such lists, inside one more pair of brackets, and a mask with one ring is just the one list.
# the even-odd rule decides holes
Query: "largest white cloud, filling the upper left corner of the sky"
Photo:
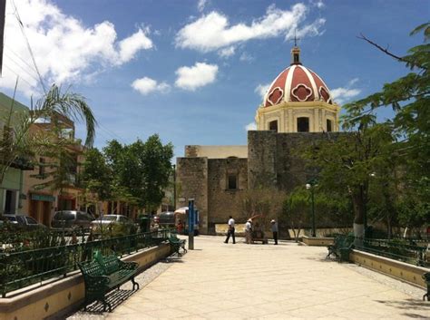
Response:
[{"label": "largest white cloud, filling the upper left corner of the sky", "polygon": [[[15,8],[7,2],[5,19],[5,70],[0,87],[13,88],[20,75],[18,90],[26,94],[40,92],[30,53],[14,15]],[[117,39],[115,26],[103,21],[84,25],[47,0],[15,0],[24,24],[34,59],[46,84],[81,81],[106,67],[128,63],[142,50],[153,47],[149,30]]]}]

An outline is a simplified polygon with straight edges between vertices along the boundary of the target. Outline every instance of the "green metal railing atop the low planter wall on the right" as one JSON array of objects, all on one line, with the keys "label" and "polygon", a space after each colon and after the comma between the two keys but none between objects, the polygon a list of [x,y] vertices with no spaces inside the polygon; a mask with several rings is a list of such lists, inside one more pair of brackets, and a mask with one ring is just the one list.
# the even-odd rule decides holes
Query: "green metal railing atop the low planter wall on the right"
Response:
[{"label": "green metal railing atop the low planter wall on the right", "polygon": [[427,257],[427,246],[423,242],[411,243],[410,240],[359,238],[356,241],[355,248],[376,256],[389,257],[411,265],[430,267],[430,257]]}]

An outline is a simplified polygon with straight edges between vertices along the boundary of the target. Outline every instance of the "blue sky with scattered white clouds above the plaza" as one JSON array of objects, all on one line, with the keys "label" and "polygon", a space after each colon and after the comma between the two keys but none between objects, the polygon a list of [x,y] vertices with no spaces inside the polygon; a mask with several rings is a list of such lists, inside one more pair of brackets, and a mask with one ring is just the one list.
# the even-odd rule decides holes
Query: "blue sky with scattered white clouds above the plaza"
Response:
[{"label": "blue sky with scattered white clouds above the plaza", "polygon": [[18,78],[17,100],[30,105],[39,73],[86,98],[96,147],[158,133],[183,156],[185,145],[247,143],[294,34],[302,63],[343,104],[408,72],[357,36],[404,55],[429,16],[426,0],[7,0],[0,91],[11,96]]}]

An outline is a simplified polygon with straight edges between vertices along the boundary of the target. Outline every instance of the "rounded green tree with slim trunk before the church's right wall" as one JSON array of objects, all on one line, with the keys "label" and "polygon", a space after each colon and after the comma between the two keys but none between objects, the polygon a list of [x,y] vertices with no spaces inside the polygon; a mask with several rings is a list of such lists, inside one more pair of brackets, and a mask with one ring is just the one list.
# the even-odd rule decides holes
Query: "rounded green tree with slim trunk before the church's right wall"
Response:
[{"label": "rounded green tree with slim trunk before the church's right wall", "polygon": [[305,153],[310,165],[320,169],[321,188],[351,199],[356,237],[364,235],[371,175],[391,156],[392,141],[389,125],[376,124],[375,119],[367,118],[358,130],[350,128],[336,136],[327,136]]}]

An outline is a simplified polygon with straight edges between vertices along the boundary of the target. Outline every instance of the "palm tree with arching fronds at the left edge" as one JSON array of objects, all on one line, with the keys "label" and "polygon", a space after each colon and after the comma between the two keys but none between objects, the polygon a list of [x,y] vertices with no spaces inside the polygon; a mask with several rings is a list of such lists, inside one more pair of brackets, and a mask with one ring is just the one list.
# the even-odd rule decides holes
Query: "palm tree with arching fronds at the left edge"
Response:
[{"label": "palm tree with arching fronds at the left edge", "polygon": [[[0,185],[5,179],[6,171],[11,167],[30,160],[32,156],[43,153],[52,147],[52,132],[32,131],[32,126],[40,120],[49,120],[54,125],[54,131],[61,131],[59,119],[84,121],[86,124],[85,147],[93,145],[96,121],[91,108],[82,95],[74,92],[62,92],[53,84],[48,92],[34,105],[31,103],[30,112],[15,112],[14,101],[11,104],[5,131],[0,137]],[[63,146],[58,145],[58,148]]]}]

